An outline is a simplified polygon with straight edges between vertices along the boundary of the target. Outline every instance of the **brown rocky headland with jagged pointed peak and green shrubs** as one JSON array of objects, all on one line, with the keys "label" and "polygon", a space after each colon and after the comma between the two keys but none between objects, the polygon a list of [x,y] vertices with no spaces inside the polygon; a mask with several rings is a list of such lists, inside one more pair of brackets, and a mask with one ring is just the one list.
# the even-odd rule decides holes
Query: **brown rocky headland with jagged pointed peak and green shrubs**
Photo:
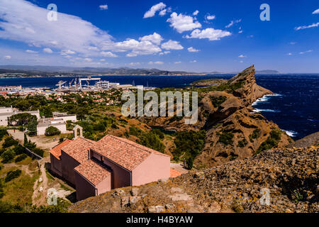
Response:
[{"label": "brown rocky headland with jagged pointed peak and green shrubs", "polygon": [[[254,65],[227,80],[212,79],[195,84],[198,92],[198,122],[186,125],[182,117],[140,118],[148,126],[181,131],[205,131],[200,152],[192,154],[196,167],[212,167],[237,158],[251,157],[270,148],[284,147],[292,142],[289,135],[262,114],[253,111],[251,104],[268,89],[256,84]],[[179,89],[175,89],[179,91]],[[185,91],[185,90],[184,90]],[[175,149],[176,150],[176,149]],[[190,158],[183,152],[172,152],[175,160]]]}]

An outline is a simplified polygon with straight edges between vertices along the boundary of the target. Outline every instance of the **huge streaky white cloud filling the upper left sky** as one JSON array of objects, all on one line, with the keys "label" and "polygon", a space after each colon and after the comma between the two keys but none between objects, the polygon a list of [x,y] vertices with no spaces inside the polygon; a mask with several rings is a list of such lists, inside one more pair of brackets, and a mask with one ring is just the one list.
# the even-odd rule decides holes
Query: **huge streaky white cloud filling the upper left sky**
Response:
[{"label": "huge streaky white cloud filling the upper left sky", "polygon": [[57,21],[47,21],[47,13],[29,1],[1,1],[0,38],[82,53],[90,45],[111,42],[111,35],[82,18],[59,12]]}]

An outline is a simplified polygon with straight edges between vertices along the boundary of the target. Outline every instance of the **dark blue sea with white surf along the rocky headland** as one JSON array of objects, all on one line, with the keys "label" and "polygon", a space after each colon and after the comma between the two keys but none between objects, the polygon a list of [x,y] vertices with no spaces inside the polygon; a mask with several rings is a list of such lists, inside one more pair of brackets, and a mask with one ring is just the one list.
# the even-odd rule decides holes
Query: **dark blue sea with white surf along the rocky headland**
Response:
[{"label": "dark blue sea with white surf along the rocky headland", "polygon": [[[190,86],[200,79],[230,79],[234,74],[189,76],[99,76],[102,80],[120,84],[144,85],[145,87]],[[2,78],[0,86],[48,87],[62,81],[71,82],[74,77],[24,77]],[[319,74],[256,74],[256,81],[274,95],[258,99],[252,106],[268,120],[274,121],[294,140],[319,131]]]}]

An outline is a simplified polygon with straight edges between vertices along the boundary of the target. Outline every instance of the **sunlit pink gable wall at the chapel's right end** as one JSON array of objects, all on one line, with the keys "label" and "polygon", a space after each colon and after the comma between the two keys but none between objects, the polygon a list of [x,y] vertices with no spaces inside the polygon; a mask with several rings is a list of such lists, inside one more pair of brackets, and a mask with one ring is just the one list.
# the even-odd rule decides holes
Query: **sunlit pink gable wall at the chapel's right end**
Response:
[{"label": "sunlit pink gable wall at the chapel's right end", "polygon": [[133,186],[155,182],[170,177],[170,157],[151,154],[132,170]]}]

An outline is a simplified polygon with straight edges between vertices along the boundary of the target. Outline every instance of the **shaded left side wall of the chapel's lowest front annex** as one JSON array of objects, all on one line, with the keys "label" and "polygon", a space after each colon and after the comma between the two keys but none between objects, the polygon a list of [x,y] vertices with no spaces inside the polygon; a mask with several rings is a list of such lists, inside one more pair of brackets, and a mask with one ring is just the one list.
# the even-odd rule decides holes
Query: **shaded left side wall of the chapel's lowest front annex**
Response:
[{"label": "shaded left side wall of the chapel's lowest front annex", "polygon": [[74,170],[75,189],[77,189],[77,201],[96,196],[94,185],[90,184],[82,175]]}]

